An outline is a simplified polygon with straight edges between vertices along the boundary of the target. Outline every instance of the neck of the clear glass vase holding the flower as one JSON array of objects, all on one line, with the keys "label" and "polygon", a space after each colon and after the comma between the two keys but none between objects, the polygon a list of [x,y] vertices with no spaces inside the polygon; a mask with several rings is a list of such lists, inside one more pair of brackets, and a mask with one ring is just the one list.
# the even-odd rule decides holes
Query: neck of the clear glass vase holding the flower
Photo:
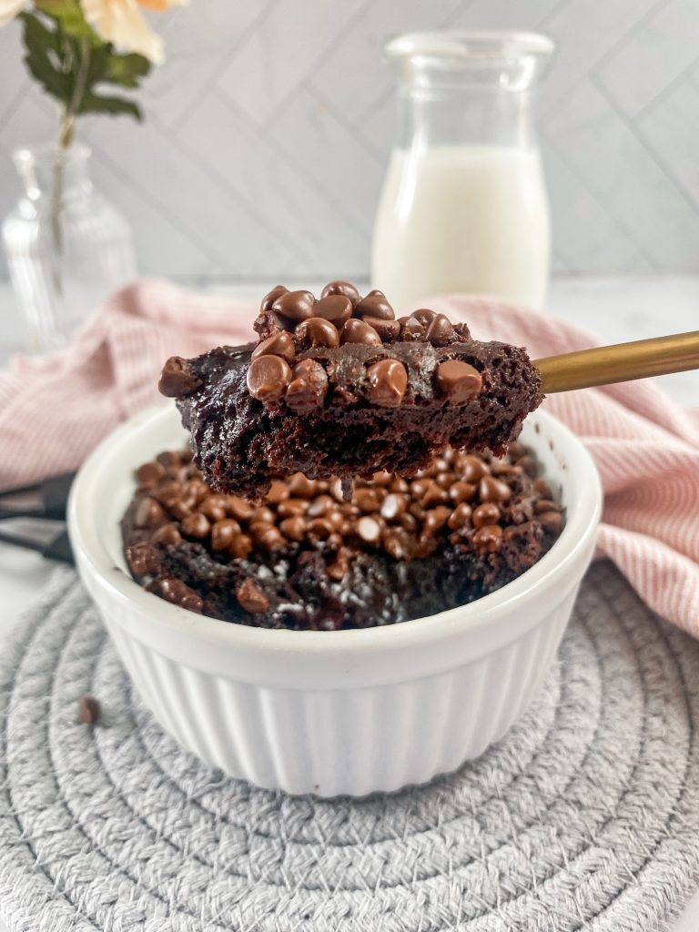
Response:
[{"label": "neck of the clear glass vase holding the flower", "polygon": [[89,156],[86,146],[74,144],[68,149],[54,145],[18,149],[13,158],[25,196],[35,202],[88,197],[92,192]]}]

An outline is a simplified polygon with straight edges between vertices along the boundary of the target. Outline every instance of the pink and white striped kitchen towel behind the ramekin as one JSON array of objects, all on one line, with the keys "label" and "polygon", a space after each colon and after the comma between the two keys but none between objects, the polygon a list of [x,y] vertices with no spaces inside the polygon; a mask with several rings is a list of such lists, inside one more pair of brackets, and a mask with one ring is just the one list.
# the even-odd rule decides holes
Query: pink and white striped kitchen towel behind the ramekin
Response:
[{"label": "pink and white striped kitchen towel behind the ramekin", "polygon": [[[473,297],[427,304],[474,336],[536,358],[594,337],[553,317]],[[256,308],[141,281],[115,295],[68,349],[15,359],[0,374],[0,487],[75,469],[123,418],[162,399],[164,360],[253,336]],[[555,395],[546,408],[578,433],[605,489],[598,551],[651,608],[699,637],[699,416],[650,382]]]}]

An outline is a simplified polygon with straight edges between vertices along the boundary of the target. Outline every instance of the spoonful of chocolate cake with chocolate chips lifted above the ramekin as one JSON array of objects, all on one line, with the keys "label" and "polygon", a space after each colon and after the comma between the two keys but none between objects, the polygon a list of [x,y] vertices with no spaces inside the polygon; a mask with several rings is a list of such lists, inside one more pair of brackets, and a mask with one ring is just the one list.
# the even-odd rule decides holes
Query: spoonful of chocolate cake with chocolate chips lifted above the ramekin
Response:
[{"label": "spoonful of chocolate cake with chocolate chips lifted above the ramekin", "polygon": [[395,320],[385,295],[349,282],[320,300],[279,285],[254,328],[256,344],[173,357],[160,378],[221,492],[259,499],[295,472],[410,475],[446,444],[500,455],[541,403],[524,349],[473,340],[427,308]]}]

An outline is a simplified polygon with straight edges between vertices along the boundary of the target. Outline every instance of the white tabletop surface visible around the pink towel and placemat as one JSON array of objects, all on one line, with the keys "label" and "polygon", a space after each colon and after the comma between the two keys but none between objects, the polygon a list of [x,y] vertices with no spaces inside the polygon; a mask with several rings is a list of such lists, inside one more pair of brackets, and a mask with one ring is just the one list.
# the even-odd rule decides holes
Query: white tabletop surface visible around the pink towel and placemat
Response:
[{"label": "white tabletop surface visible around the pink towel and placemat", "polygon": [[[216,291],[256,297],[264,285],[217,285]],[[606,343],[681,333],[699,328],[699,276],[554,281],[549,310],[596,334]],[[0,282],[0,364],[21,348],[21,323],[7,284]],[[699,407],[699,372],[659,379],[678,404]],[[0,543],[0,638],[47,581],[51,567],[34,553]],[[692,898],[673,932],[699,928],[699,893]],[[0,932],[6,929],[0,923]]]}]

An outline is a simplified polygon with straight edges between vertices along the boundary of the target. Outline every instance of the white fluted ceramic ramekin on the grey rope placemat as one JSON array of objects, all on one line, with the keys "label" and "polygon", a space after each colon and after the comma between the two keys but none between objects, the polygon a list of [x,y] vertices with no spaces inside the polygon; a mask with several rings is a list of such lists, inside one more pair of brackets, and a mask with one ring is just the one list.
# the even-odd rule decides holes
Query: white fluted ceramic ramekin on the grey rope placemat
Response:
[{"label": "white fluted ceramic ramekin on the grey rope placemat", "polygon": [[130,579],[119,518],[133,470],[185,443],[174,408],[131,418],[75,480],[77,566],[144,703],[203,761],[266,788],[361,796],[422,783],[497,741],[551,665],[592,558],[601,489],[543,412],[521,439],[567,524],[536,566],[471,605],[357,631],[267,631],[177,608]]}]

